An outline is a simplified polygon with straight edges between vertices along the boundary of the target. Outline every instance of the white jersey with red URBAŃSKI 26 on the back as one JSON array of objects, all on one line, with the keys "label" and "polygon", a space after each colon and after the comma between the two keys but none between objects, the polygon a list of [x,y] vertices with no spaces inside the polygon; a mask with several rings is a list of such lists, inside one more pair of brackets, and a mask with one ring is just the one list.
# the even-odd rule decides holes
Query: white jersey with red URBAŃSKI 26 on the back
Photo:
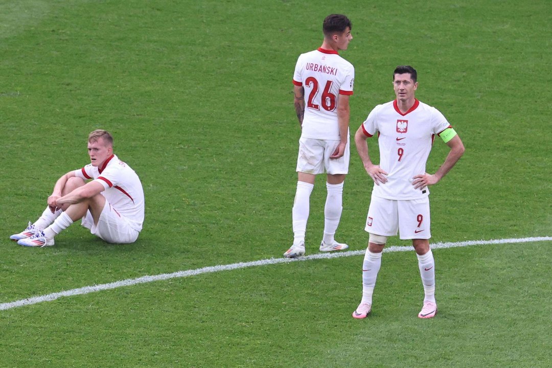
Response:
[{"label": "white jersey with red URBA\u0143SKI 26 on the back", "polygon": [[337,51],[319,48],[301,54],[293,84],[305,88],[305,115],[301,137],[339,140],[337,100],[353,94],[354,67]]}]

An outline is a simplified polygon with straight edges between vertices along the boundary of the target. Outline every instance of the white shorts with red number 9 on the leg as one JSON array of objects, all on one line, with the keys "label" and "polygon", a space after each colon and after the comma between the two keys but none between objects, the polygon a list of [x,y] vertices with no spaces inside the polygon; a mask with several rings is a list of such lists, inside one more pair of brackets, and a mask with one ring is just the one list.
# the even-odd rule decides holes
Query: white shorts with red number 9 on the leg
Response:
[{"label": "white shorts with red number 9 on the leg", "polygon": [[372,195],[365,231],[383,236],[399,231],[401,239],[429,239],[430,227],[429,197],[399,201]]}]

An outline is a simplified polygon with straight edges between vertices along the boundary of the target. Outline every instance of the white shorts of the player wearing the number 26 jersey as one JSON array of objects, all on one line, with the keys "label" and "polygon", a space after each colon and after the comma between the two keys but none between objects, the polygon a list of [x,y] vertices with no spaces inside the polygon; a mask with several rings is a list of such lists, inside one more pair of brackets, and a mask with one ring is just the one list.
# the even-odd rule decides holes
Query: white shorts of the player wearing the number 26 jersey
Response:
[{"label": "white shorts of the player wearing the number 26 jersey", "polygon": [[320,140],[312,138],[300,138],[299,155],[297,158],[297,172],[307,174],[332,175],[349,173],[349,141],[342,157],[330,159],[339,145],[338,140]]}]

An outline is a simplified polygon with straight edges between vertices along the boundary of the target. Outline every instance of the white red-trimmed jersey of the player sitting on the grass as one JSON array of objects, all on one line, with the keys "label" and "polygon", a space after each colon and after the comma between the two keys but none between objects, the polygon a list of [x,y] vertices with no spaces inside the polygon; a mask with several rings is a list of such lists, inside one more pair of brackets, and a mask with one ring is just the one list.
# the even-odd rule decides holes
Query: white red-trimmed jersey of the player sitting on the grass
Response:
[{"label": "white red-trimmed jersey of the player sitting on the grass", "polygon": [[144,190],[138,175],[114,154],[102,164],[92,164],[75,170],[75,176],[84,180],[94,179],[105,188],[103,196],[113,208],[123,215],[132,228],[142,230],[144,223]]}]

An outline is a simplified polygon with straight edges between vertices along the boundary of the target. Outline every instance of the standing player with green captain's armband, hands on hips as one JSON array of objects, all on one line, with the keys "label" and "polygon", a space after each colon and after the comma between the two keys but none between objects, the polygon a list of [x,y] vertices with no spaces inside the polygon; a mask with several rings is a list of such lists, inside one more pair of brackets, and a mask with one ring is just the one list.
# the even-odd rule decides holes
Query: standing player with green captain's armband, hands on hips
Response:
[{"label": "standing player with green captain's armband, hands on hips", "polygon": [[[436,184],[457,163],[464,145],[443,114],[415,98],[417,73],[411,66],[398,66],[393,73],[396,99],[376,106],[360,125],[354,141],[366,172],[374,180],[365,230],[370,234],[362,267],[362,301],[354,318],[371,311],[372,294],[381,265],[381,252],[388,236],[397,231],[412,239],[424,288],[418,317],[437,313],[435,262],[429,248],[429,185]],[[380,164],[368,156],[366,139],[378,134]],[[426,162],[433,138],[440,136],[450,147],[447,158],[433,175]]]}]

